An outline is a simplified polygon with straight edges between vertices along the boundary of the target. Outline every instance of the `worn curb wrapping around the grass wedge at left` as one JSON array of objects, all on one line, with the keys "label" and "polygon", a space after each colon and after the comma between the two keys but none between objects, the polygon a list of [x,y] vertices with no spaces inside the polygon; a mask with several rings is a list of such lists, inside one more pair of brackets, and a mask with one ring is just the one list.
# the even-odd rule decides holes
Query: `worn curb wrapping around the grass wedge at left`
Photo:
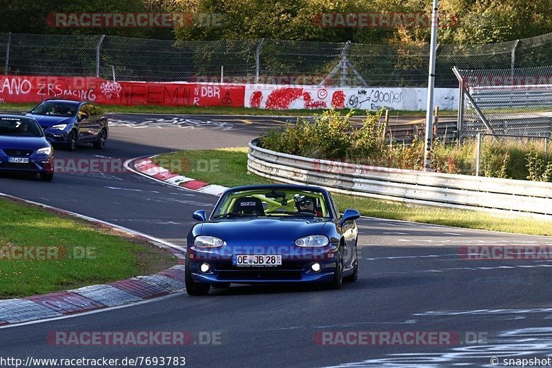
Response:
[{"label": "worn curb wrapping around the grass wedge at left", "polygon": [[184,291],[184,260],[186,255],[185,250],[180,246],[93,217],[23,200],[12,195],[0,193],[0,196],[41,206],[63,215],[79,217],[106,226],[109,229],[132,235],[166,249],[178,259],[177,265],[153,275],[137,276],[128,280],[48,293],[41,296],[0,300],[0,326],[4,327],[34,320],[59,318],[75,313],[118,307]]}]

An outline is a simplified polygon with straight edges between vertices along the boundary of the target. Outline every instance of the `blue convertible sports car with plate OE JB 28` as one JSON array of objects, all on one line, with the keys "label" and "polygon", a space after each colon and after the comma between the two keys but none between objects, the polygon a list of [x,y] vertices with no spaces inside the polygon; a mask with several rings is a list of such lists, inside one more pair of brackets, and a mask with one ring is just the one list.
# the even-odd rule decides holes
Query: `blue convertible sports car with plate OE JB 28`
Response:
[{"label": "blue convertible sports car with plate OE JB 28", "polygon": [[359,213],[339,214],[328,191],[284,184],[226,190],[209,218],[196,211],[188,234],[186,291],[211,286],[357,279]]}]

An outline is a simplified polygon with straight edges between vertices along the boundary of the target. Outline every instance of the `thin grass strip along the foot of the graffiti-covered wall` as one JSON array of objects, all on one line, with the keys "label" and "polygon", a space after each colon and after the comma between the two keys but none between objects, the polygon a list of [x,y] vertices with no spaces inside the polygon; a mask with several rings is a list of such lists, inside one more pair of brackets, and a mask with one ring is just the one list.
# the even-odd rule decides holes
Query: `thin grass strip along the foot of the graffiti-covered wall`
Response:
[{"label": "thin grass strip along the foot of the graffiti-covered wall", "polygon": [[[2,111],[27,111],[37,104],[1,104]],[[184,114],[184,115],[260,115],[260,116],[311,116],[320,114],[323,109],[309,110],[306,108],[295,110],[265,110],[262,108],[244,108],[244,107],[199,107],[199,106],[117,106],[117,105],[102,105],[101,108],[106,113],[156,113],[156,114]],[[352,109],[355,116],[366,115],[366,110]],[[350,110],[337,110],[339,114],[345,115]],[[393,110],[391,116],[426,116],[425,111],[406,111]],[[442,110],[441,115],[456,115],[453,110]]]}]

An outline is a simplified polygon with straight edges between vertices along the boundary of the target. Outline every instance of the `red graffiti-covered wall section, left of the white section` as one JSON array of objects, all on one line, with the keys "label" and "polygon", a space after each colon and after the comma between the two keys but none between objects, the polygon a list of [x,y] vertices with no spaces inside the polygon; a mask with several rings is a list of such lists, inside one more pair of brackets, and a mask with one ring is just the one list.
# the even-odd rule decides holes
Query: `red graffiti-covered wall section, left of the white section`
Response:
[{"label": "red graffiti-covered wall section, left of the white section", "polygon": [[36,103],[50,98],[106,105],[244,106],[245,86],[234,84],[107,81],[95,77],[0,77],[0,101]]}]

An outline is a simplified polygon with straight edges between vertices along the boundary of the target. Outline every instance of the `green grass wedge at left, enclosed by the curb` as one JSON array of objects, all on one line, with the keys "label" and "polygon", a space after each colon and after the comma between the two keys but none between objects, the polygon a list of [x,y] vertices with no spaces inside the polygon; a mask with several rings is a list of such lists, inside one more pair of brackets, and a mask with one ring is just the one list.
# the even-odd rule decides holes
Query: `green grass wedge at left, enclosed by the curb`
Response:
[{"label": "green grass wedge at left, enclosed by the curb", "polygon": [[148,275],[175,263],[170,253],[143,240],[0,199],[0,298]]}]

